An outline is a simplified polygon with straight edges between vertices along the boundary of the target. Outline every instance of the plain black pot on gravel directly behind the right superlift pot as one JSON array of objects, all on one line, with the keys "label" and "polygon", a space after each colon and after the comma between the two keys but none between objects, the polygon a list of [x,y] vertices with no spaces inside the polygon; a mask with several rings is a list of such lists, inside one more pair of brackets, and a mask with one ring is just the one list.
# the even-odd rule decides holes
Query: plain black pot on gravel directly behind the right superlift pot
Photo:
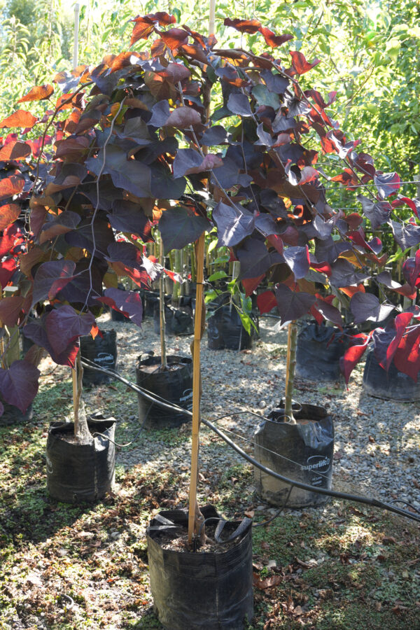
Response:
[{"label": "plain black pot on gravel directly behind the right superlift pot", "polygon": [[348,337],[339,328],[304,323],[297,335],[297,377],[310,381],[342,379],[339,359],[348,346]]}]

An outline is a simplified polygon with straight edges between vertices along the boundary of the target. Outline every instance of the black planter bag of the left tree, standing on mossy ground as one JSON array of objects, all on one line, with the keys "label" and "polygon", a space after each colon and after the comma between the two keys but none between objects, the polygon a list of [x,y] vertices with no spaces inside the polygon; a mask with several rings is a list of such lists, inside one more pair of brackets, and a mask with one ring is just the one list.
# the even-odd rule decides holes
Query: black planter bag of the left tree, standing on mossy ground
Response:
[{"label": "black planter bag of the left tree, standing on mossy ground", "polygon": [[[47,490],[66,503],[96,501],[113,489],[116,470],[116,420],[87,421],[91,444],[73,441],[73,422],[51,422],[47,440]],[[112,442],[110,441],[112,440]]]}]

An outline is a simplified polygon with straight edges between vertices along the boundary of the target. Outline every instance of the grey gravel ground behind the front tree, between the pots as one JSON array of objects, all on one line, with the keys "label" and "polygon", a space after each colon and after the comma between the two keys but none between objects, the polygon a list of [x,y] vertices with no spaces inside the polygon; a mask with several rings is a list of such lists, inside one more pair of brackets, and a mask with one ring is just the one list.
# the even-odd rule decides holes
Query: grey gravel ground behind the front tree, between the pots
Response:
[{"label": "grey gravel ground behind the front tree, between the pots", "polygon": [[[99,318],[102,329],[117,331],[118,370],[135,382],[135,363],[139,354],[153,350],[160,353],[160,340],[153,332],[153,321],[146,318],[140,330],[132,323],[111,321],[109,314]],[[274,330],[276,321],[263,318],[260,339],[248,351],[213,351],[202,342],[202,416],[214,421],[218,416],[234,412],[267,414],[276,406],[284,391],[286,332]],[[190,356],[192,337],[167,337],[168,354]],[[367,493],[381,500],[402,498],[420,508],[420,402],[401,403],[372,398],[363,393],[363,364],[353,372],[348,390],[342,383],[316,384],[297,380],[294,397],[300,402],[323,405],[335,421],[335,455],[333,487],[342,491]],[[96,393],[95,393],[96,392]],[[102,406],[103,388],[85,393],[90,404]],[[127,390],[120,407],[122,416],[117,440],[125,442],[123,426],[137,423],[137,397]],[[124,421],[126,421],[124,423]],[[250,454],[253,432],[258,419],[251,414],[227,417],[218,426],[242,435],[235,438]],[[130,468],[143,463],[145,470],[158,470],[170,465],[187,476],[190,457],[189,424],[181,444],[170,445],[160,440],[147,440],[120,449],[118,463]],[[240,458],[210,430],[201,433],[201,470],[223,470]],[[402,506],[403,507],[403,506]]]}]

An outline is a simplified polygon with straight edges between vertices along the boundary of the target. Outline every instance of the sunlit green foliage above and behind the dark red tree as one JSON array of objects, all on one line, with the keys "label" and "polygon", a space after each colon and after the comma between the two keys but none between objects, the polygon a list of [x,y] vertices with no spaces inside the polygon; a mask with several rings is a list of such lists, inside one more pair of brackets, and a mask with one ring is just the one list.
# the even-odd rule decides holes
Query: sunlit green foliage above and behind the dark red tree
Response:
[{"label": "sunlit green foliage above and behind the dark red tree", "polygon": [[[71,70],[73,5],[71,0],[3,0],[1,118],[30,87],[51,82],[56,71]],[[207,30],[207,2],[82,0],[80,5],[80,63],[97,64],[106,53],[126,50],[130,19],[137,14],[167,10],[179,22]],[[235,47],[241,36],[223,26],[226,17],[256,18],[273,31],[292,33],[296,50],[321,59],[310,73],[311,84],[325,96],[337,90],[333,115],[351,137],[360,138],[360,150],[371,153],[385,172],[413,179],[420,162],[419,0],[218,0],[219,45]],[[255,51],[262,50],[260,34],[244,37]],[[330,165],[334,159],[323,156],[320,162]],[[407,185],[403,192],[415,195],[416,188]]]}]

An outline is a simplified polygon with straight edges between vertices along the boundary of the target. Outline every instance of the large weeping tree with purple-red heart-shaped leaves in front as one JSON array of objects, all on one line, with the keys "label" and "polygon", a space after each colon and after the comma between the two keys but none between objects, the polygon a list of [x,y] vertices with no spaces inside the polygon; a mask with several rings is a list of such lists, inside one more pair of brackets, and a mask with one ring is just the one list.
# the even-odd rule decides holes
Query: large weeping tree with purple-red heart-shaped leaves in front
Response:
[{"label": "large weeping tree with purple-red heart-shaped leaves in front", "polygon": [[[24,328],[53,360],[73,367],[78,338],[96,334],[103,302],[141,324],[139,294],[117,283],[127,276],[148,288],[165,272],[145,253],[153,226],[165,254],[195,243],[191,540],[201,522],[196,485],[204,232],[216,226],[219,246],[230,248],[240,263],[238,282],[247,296],[265,278],[274,283],[258,296],[258,305],[261,312],[278,307],[281,322],[289,323],[286,415],[293,419],[295,322],[312,314],[342,327],[333,300],[349,305],[356,323],[378,322],[395,307],[387,296],[414,299],[420,251],[405,261],[401,285],[381,270],[387,255],[365,230],[386,226],[403,250],[416,246],[419,202],[398,195],[398,175],[377,171],[370,155],[358,151],[359,141],[332,120],[336,94],[325,97],[309,85],[318,60],[288,51],[292,36],[274,34],[256,20],[225,20],[242,34],[260,33],[265,52],[257,55],[217,48],[213,36],[174,26],[167,13],[133,21],[132,50],[107,55],[94,69],[59,73],[55,85],[34,87],[22,100],[48,99],[42,119],[20,109],[0,123],[22,130],[1,148],[8,157],[0,153],[11,171],[0,184],[1,283],[15,287],[0,301],[0,320]],[[150,41],[146,52],[144,40]],[[43,133],[34,154],[25,134],[38,129]],[[325,174],[317,163],[330,155],[335,160]],[[9,206],[22,193],[22,169],[30,160],[30,209],[19,218]],[[335,206],[338,186],[359,212]],[[412,213],[408,221],[398,218],[402,205]],[[379,297],[368,292],[367,280]],[[357,335],[344,356],[346,379],[371,341],[381,365],[394,360],[416,377],[419,317],[411,307],[385,329]],[[38,387],[31,360],[0,370],[3,400],[22,410]]]}]

